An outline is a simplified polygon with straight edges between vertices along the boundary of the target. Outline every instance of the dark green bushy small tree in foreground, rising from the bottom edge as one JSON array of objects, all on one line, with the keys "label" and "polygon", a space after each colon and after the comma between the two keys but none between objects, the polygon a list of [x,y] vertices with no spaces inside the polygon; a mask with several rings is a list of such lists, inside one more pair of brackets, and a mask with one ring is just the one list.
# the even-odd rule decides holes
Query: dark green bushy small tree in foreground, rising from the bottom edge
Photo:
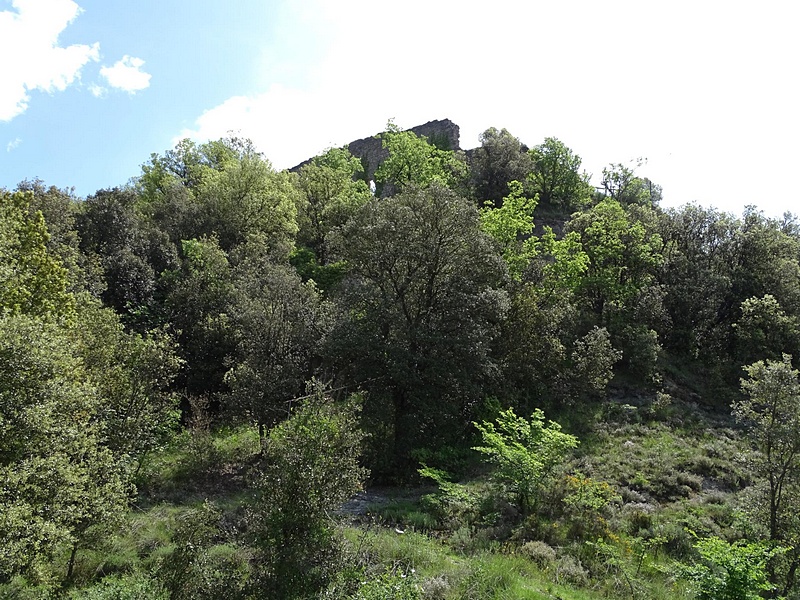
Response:
[{"label": "dark green bushy small tree in foreground, rising from the bottom edge", "polygon": [[334,403],[320,389],[270,431],[263,447],[252,534],[269,596],[303,598],[323,589],[340,565],[330,511],[361,489],[360,398]]}]

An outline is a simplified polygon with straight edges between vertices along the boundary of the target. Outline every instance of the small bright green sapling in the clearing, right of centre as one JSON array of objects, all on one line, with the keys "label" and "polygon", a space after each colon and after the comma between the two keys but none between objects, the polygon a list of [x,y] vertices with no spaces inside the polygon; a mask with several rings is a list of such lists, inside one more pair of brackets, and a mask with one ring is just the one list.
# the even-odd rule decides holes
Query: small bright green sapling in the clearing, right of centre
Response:
[{"label": "small bright green sapling in the clearing, right of centre", "polygon": [[578,439],[563,433],[555,421],[545,425],[539,409],[530,420],[509,408],[500,413],[496,424],[484,421],[474,425],[485,445],[473,450],[495,465],[498,481],[513,492],[525,515],[536,509],[548,477],[564,462],[566,452],[578,446]]}]

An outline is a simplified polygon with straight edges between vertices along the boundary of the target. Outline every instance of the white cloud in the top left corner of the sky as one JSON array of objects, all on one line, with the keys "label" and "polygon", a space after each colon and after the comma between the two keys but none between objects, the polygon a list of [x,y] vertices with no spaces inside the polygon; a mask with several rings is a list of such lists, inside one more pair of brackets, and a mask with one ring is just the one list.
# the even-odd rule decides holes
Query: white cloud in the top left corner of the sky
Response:
[{"label": "white cloud in the top left corner of the sky", "polygon": [[29,92],[64,91],[100,58],[98,43],[58,45],[81,12],[72,0],[11,0],[11,6],[0,12],[0,121],[25,112]]}]

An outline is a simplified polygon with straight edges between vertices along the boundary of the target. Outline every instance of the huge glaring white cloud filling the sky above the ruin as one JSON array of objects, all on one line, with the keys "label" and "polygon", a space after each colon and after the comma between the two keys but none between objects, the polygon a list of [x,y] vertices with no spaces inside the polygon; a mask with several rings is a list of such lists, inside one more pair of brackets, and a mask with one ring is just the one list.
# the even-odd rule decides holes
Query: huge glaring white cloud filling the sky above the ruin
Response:
[{"label": "huge glaring white cloud filling the sky above the ruin", "polygon": [[[302,87],[278,75],[262,93],[207,110],[182,136],[241,130],[283,168],[388,118],[413,126],[449,117],[465,148],[489,126],[529,145],[556,136],[597,175],[648,157],[642,175],[663,185],[668,204],[755,203],[779,214],[800,200],[785,185],[800,163],[800,87],[789,77],[797,12],[716,0],[317,0],[297,22],[316,15],[332,41],[294,79]],[[315,28],[295,31],[312,44],[304,29]],[[763,176],[775,172],[786,177]]]}]

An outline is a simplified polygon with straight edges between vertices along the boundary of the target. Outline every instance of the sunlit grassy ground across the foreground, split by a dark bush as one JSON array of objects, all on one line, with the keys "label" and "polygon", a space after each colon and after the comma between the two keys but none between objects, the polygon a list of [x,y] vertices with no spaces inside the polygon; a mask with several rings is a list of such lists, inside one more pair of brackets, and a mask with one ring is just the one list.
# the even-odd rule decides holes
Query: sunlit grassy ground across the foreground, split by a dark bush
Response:
[{"label": "sunlit grassy ground across the foreground, split by a dark bush", "polygon": [[[590,515],[598,525],[591,531],[574,527],[586,515],[563,504],[566,480],[545,499],[546,516],[528,520],[509,511],[485,476],[438,492],[382,491],[388,501],[344,530],[350,581],[404,577],[426,600],[690,597],[670,579],[671,565],[693,556],[689,530],[735,533],[731,498],[747,473],[735,460],[744,450],[735,430],[702,418],[682,422],[680,412],[672,405],[656,418],[624,405],[584,438],[567,471],[618,492]],[[237,532],[246,527],[247,472],[258,451],[254,428],[178,435],[145,465],[139,501],[119,531],[100,532],[96,550],[79,552],[74,589],[98,588],[103,578],[131,589],[157,581],[206,500],[225,530],[204,542],[198,568],[219,589],[246,581],[250,550]]]}]

